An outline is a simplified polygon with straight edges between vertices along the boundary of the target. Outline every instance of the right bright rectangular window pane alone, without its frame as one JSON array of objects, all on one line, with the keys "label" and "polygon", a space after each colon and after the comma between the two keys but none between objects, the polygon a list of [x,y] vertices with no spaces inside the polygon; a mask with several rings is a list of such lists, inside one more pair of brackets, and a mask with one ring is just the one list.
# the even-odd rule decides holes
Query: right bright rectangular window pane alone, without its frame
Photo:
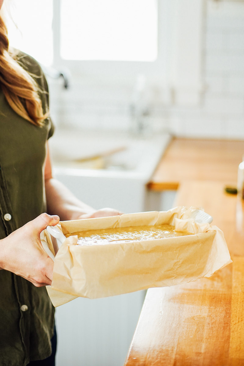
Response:
[{"label": "right bright rectangular window pane alone, without its frame", "polygon": [[65,60],[155,61],[157,1],[61,0]]}]

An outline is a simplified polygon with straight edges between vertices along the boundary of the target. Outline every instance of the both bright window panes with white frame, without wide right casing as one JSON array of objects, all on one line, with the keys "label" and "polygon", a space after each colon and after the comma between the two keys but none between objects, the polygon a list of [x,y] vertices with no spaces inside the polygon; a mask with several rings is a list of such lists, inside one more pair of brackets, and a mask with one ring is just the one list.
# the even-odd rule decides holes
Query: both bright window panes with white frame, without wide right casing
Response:
[{"label": "both bright window panes with white frame, without wide right casing", "polygon": [[167,1],[12,1],[10,43],[45,66],[116,82],[166,74]]}]

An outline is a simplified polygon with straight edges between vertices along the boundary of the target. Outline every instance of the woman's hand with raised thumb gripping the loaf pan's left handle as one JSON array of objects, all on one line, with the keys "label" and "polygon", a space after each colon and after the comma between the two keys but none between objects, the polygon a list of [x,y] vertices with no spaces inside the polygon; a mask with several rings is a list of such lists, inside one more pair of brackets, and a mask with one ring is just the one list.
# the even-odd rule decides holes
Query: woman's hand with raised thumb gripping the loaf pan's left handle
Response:
[{"label": "woman's hand with raised thumb gripping the loaf pan's left handle", "polygon": [[48,225],[55,226],[59,216],[42,213],[36,219],[0,240],[0,268],[24,277],[37,287],[50,285],[53,260],[42,247],[40,234]]}]

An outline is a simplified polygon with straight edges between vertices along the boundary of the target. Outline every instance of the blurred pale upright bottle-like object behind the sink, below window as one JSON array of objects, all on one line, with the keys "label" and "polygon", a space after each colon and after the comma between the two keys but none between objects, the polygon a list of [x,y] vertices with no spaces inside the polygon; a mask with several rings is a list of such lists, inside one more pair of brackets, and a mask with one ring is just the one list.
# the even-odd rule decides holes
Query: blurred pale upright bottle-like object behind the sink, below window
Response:
[{"label": "blurred pale upright bottle-like object behind the sink, below window", "polygon": [[149,95],[144,75],[138,75],[129,106],[131,116],[131,132],[137,137],[146,137],[148,132]]}]

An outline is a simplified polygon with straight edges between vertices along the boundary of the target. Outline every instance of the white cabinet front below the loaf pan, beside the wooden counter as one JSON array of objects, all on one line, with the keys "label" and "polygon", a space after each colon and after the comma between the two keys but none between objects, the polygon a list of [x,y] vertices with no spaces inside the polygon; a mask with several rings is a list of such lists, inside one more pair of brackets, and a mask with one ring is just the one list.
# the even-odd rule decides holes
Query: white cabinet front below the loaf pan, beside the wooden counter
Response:
[{"label": "white cabinet front below the loaf pan, beside the wooden counter", "polygon": [[144,296],[78,298],[58,307],[57,366],[123,366]]}]

